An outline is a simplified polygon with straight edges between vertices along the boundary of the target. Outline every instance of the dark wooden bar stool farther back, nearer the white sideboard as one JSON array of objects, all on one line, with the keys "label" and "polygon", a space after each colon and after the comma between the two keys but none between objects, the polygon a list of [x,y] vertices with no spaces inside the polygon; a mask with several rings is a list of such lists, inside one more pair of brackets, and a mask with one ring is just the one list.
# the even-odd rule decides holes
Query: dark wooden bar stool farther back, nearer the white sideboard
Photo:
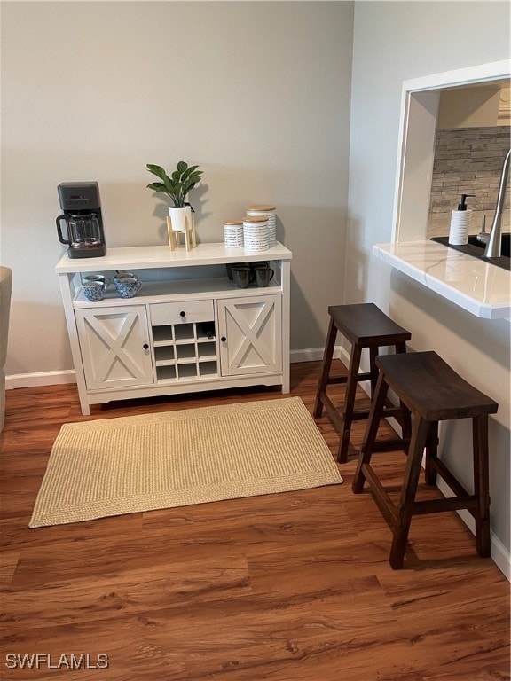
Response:
[{"label": "dark wooden bar stool farther back, nearer the white sideboard", "polygon": [[[330,315],[330,325],[326,336],[325,353],[313,415],[315,419],[319,419],[323,413],[323,407],[325,407],[329,419],[340,435],[337,460],[340,463],[345,463],[348,460],[351,423],[353,420],[366,419],[369,415],[369,410],[355,411],[354,409],[358,381],[370,380],[371,395],[373,395],[378,377],[378,369],[374,364],[374,360],[378,356],[378,349],[394,346],[397,353],[406,352],[406,341],[411,339],[412,334],[393,322],[373,302],[331,305],[328,308],[328,314]],[[341,333],[351,343],[348,376],[330,376],[337,333]],[[360,357],[364,348],[369,348],[369,372],[360,373]],[[327,387],[333,383],[347,384],[341,413],[326,395]],[[404,439],[409,439],[409,418],[406,419],[405,416],[405,419],[402,419],[403,412],[400,409],[391,407],[385,410],[385,416],[395,416],[400,419],[401,425],[404,427]],[[388,442],[386,448],[395,444],[396,442]]]}]

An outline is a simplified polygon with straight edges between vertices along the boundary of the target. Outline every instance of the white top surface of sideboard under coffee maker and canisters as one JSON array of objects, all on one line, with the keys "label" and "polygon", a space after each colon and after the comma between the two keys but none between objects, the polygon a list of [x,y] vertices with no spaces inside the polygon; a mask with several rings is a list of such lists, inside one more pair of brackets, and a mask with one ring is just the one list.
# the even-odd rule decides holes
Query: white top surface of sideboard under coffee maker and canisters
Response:
[{"label": "white top surface of sideboard under coffee maker and canisters", "polygon": [[224,243],[198,244],[191,251],[168,246],[140,246],[108,248],[100,258],[70,258],[63,255],[55,267],[57,274],[97,272],[107,270],[145,270],[167,267],[217,265],[226,262],[285,261],[292,253],[279,242],[259,253],[247,252],[244,247],[226,248]]}]

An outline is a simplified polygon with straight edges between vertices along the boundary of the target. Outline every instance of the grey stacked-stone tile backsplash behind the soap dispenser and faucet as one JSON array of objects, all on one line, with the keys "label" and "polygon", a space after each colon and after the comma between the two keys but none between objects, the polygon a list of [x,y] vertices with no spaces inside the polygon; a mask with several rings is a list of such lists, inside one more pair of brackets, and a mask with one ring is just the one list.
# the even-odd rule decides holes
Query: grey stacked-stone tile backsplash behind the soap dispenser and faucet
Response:
[{"label": "grey stacked-stone tile backsplash behind the soap dispenser and faucet", "polygon": [[[458,207],[461,194],[476,194],[475,198],[467,200],[468,208],[472,209],[470,231],[473,234],[481,231],[483,215],[486,215],[486,230],[490,230],[502,163],[510,146],[510,133],[508,125],[436,130],[428,238],[449,233],[451,212]],[[508,183],[502,216],[505,231],[510,229],[510,207]]]}]

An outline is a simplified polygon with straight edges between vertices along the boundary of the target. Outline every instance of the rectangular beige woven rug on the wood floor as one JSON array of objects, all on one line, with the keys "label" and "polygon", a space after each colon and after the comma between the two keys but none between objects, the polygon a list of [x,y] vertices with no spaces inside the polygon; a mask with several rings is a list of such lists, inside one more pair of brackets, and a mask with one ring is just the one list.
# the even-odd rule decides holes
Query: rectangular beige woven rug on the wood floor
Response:
[{"label": "rectangular beige woven rug on the wood floor", "polygon": [[28,527],[340,482],[299,397],[70,423]]}]

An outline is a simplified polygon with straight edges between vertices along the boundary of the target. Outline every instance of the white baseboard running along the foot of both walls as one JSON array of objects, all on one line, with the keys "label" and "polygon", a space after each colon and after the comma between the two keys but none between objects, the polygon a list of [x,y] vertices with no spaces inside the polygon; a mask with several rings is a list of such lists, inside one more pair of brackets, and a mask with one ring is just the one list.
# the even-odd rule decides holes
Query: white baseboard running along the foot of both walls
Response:
[{"label": "white baseboard running along the foot of both walls", "polygon": [[[296,362],[318,362],[323,359],[324,348],[304,348],[303,350],[291,350],[290,361]],[[341,359],[344,364],[350,362],[350,356],[347,351],[336,346],[334,349],[334,357]],[[64,372],[38,372],[38,373],[18,373],[5,377],[5,388],[10,390],[16,387],[35,387],[35,386],[53,386],[64,383],[75,383],[76,377],[73,370]],[[369,381],[362,381],[360,383],[367,395],[370,395]],[[399,425],[396,419],[388,419],[389,424],[394,430],[399,433]],[[436,485],[442,492],[444,497],[451,497],[451,489],[444,483],[441,478],[438,478]],[[467,525],[472,534],[476,533],[474,518],[466,509],[461,509],[457,512],[461,520]],[[502,574],[511,582],[511,554],[506,546],[502,544],[499,537],[491,534],[491,559],[497,565]]]}]

